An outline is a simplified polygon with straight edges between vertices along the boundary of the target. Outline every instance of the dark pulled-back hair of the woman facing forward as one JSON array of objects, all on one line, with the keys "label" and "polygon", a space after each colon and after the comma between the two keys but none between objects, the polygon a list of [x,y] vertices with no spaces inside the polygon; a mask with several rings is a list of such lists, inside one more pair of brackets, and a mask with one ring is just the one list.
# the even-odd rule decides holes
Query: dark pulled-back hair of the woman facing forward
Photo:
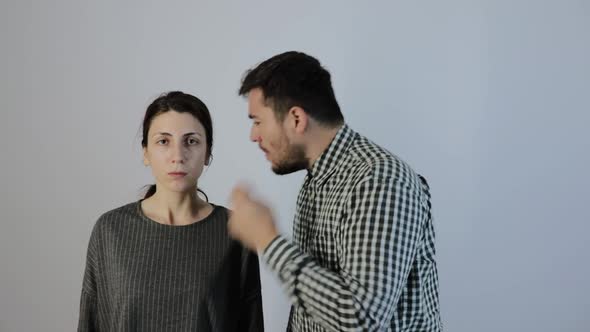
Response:
[{"label": "dark pulled-back hair of the woman facing forward", "polygon": [[[162,113],[166,113],[169,111],[175,111],[178,113],[189,113],[194,116],[203,128],[205,128],[205,136],[206,136],[206,143],[207,143],[207,155],[205,156],[206,160],[211,160],[211,149],[213,148],[213,123],[211,121],[211,114],[209,113],[209,109],[205,103],[203,103],[199,98],[189,95],[187,93],[181,91],[171,91],[165,93],[154,100],[150,106],[148,106],[145,116],[143,118],[142,124],[142,139],[141,139],[141,146],[147,147],[148,143],[148,132],[150,130],[150,126],[152,125],[152,121],[154,118]],[[197,189],[201,192],[207,201],[209,198],[207,194],[200,189]],[[156,193],[156,185],[152,184],[149,186],[147,192],[145,193],[144,199],[152,196]]]}]

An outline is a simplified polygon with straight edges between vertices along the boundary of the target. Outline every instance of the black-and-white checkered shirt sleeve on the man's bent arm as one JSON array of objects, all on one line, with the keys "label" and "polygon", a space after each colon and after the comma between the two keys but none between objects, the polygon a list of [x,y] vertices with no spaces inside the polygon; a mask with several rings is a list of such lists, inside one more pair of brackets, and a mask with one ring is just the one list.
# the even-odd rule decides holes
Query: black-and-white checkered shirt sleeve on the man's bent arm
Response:
[{"label": "black-and-white checkered shirt sleeve on the man's bent arm", "polygon": [[264,259],[291,301],[332,331],[386,329],[416,256],[425,220],[417,189],[392,177],[358,183],[337,232],[340,272],[321,267],[283,236]]}]

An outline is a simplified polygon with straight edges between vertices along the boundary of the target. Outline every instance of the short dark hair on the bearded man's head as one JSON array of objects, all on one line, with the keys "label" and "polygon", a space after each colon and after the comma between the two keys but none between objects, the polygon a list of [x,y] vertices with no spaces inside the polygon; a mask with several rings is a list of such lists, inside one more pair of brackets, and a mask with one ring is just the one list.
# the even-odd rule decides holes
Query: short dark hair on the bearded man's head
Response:
[{"label": "short dark hair on the bearded man's head", "polygon": [[330,73],[305,53],[285,52],[248,70],[239,95],[246,96],[256,88],[262,90],[265,103],[279,120],[291,107],[298,106],[320,124],[336,126],[344,122]]}]

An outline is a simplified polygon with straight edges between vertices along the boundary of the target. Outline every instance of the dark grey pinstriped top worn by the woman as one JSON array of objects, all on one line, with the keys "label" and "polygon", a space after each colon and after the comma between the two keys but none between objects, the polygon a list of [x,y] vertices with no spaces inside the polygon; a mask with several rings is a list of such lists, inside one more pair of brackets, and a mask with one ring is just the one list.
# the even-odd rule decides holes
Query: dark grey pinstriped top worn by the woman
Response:
[{"label": "dark grey pinstriped top worn by the woman", "polygon": [[90,237],[78,331],[262,331],[257,256],[227,235],[228,211],[157,223],[140,201],[102,215]]}]

